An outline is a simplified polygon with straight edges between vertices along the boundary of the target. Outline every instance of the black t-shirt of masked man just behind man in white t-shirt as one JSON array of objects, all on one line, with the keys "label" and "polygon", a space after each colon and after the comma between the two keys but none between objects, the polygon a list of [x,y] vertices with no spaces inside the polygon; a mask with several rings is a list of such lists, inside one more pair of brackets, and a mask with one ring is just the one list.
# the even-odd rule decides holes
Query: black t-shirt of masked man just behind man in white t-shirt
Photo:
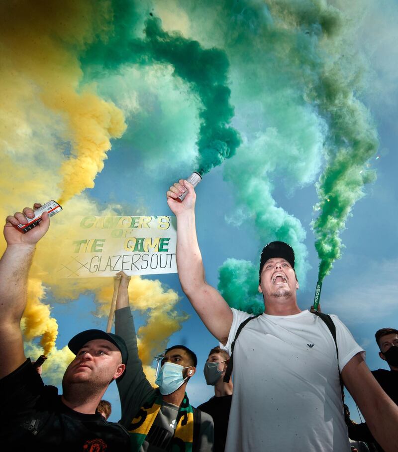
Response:
[{"label": "black t-shirt of masked man just behind man in white t-shirt", "polygon": [[232,395],[212,397],[199,405],[199,410],[208,413],[214,422],[214,452],[224,452],[227,439],[229,412],[231,411]]}]

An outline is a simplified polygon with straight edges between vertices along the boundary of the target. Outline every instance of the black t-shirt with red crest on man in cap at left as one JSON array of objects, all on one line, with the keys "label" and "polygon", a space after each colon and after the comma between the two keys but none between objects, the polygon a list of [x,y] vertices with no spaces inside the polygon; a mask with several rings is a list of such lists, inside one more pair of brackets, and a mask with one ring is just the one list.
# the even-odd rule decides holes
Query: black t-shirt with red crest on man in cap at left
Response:
[{"label": "black t-shirt with red crest on man in cap at left", "polygon": [[67,407],[27,359],[0,380],[2,451],[128,451],[128,432],[99,414]]}]

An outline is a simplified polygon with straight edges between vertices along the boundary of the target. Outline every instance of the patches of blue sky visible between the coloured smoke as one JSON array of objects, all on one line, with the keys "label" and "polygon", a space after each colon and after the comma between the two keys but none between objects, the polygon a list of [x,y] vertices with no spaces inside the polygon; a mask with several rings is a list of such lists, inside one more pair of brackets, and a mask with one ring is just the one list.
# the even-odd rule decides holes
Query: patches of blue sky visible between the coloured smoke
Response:
[{"label": "patches of blue sky visible between the coloured smoke", "polygon": [[[378,180],[368,187],[367,196],[355,206],[348,227],[342,234],[346,246],[344,256],[335,263],[332,273],[325,278],[321,298],[322,310],[336,313],[349,327],[357,342],[366,350],[370,369],[388,368],[378,356],[379,350],[374,334],[382,327],[397,327],[398,319],[396,302],[398,238],[394,221],[392,221],[397,214],[396,209],[394,211],[394,206],[397,205],[397,183],[393,168],[398,167],[398,159],[394,151],[394,136],[398,138],[396,131],[386,127],[384,147],[389,152],[375,163]],[[384,136],[381,135],[381,139],[384,142]],[[98,197],[98,200],[104,199],[103,191],[108,191],[109,185],[114,183],[113,175],[119,168],[120,152],[115,145],[104,170],[97,178],[96,187],[91,194]],[[124,171],[130,172],[127,168],[124,168]],[[186,173],[187,171],[183,175]],[[133,171],[130,174],[131,179],[134,180],[136,175]],[[109,195],[117,196],[120,201],[132,205],[140,198],[150,197],[151,210],[148,209],[147,213],[168,214],[165,190],[169,180],[165,174],[159,172],[148,175],[145,183],[136,185],[134,192],[127,190],[126,187],[123,189],[121,186],[115,191],[112,190]],[[256,238],[252,225],[244,224],[236,228],[225,221],[225,216],[233,208],[233,193],[228,184],[222,180],[221,168],[203,178],[202,183],[198,185],[197,194],[199,245],[206,278],[209,284],[216,286],[217,269],[226,258],[235,257],[257,262],[263,244]],[[308,231],[306,244],[312,268],[308,273],[306,287],[300,288],[298,292],[298,304],[301,309],[306,309],[313,301],[317,277],[318,261],[313,248],[313,236],[309,229],[309,222],[312,219],[311,206],[316,201],[316,194],[313,187],[307,187],[290,199],[283,196],[281,198],[285,208],[294,212],[301,222],[306,224]],[[171,336],[169,344],[184,344],[198,355],[198,372],[188,385],[188,395],[194,405],[199,405],[212,396],[212,387],[205,384],[202,367],[208,351],[217,344],[217,341],[203,326],[182,293],[177,275],[160,275],[159,280],[179,293],[182,297],[178,305],[179,309],[190,314],[190,319],[183,322],[182,329]],[[109,284],[112,284],[111,280]],[[93,298],[82,296],[71,304],[54,304],[53,315],[60,325],[58,348],[64,346],[69,338],[81,329],[106,327],[106,319],[99,319],[92,315],[96,310]],[[144,315],[135,314],[134,318],[136,328],[145,322]],[[112,420],[118,420],[120,410],[115,384],[110,386],[104,397],[112,402]],[[348,397],[348,405],[353,419],[359,420],[350,397]]]}]

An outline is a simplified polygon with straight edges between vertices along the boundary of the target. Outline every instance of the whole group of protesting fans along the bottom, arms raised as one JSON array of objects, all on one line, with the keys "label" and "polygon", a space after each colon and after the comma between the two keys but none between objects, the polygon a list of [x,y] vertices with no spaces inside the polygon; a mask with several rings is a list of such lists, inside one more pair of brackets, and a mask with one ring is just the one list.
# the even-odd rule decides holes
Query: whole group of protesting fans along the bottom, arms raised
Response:
[{"label": "whole group of protesting fans along the bottom, arms raised", "polygon": [[[187,385],[198,360],[184,345],[165,351],[157,387],[149,383],[138,355],[130,279],[123,272],[115,334],[91,329],[74,336],[68,346],[76,356],[65,371],[62,395],[44,385],[24,355],[20,320],[35,246],[50,221],[44,214],[38,226],[20,233],[13,226],[33,215],[25,208],[6,219],[7,248],[0,260],[2,450],[398,451],[398,330],[376,332],[380,358],[390,370],[369,371],[364,350],[337,316],[298,308],[295,255],[284,242],[271,242],[261,254],[265,312],[231,309],[204,279],[192,185],[180,180],[167,198],[177,217],[182,289],[220,342],[204,363],[214,397],[198,408],[190,404]],[[118,423],[107,421],[111,407],[101,400],[113,380],[121,402]],[[366,423],[350,420],[344,386]]]}]

